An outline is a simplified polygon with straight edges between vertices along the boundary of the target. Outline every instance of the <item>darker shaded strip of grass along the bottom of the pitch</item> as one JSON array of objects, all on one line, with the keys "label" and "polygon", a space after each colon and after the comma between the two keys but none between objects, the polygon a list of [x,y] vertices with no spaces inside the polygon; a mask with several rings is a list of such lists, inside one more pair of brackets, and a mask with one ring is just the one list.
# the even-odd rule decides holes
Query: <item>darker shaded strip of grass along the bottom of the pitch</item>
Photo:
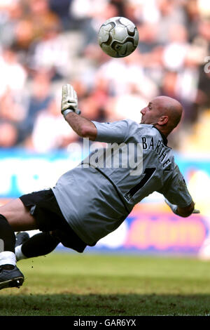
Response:
[{"label": "darker shaded strip of grass along the bottom of the pitch", "polygon": [[210,315],[210,295],[18,294],[1,296],[1,316]]}]

